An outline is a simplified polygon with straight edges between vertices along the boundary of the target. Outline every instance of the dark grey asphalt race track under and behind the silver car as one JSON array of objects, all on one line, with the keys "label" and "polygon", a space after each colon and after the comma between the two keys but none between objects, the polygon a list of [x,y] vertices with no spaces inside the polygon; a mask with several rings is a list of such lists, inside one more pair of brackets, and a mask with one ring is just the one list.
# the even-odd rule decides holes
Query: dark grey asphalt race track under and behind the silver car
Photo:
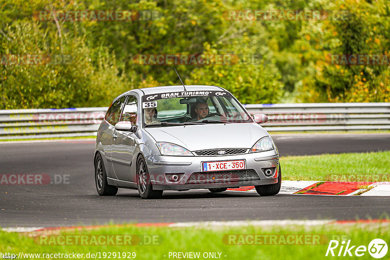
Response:
[{"label": "dark grey asphalt race track under and behind the silver car", "polygon": [[[390,134],[273,135],[283,155],[390,150]],[[47,174],[47,185],[0,185],[0,226],[277,219],[355,220],[389,216],[388,197],[342,197],[205,190],[165,191],[142,200],[136,190],[98,196],[95,142],[0,143],[0,174]]]}]

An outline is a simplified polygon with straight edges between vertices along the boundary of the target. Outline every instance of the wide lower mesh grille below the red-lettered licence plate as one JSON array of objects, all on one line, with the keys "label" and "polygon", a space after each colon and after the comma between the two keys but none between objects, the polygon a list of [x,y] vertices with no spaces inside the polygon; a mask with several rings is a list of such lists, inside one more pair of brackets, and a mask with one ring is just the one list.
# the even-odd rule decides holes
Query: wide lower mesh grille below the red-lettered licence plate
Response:
[{"label": "wide lower mesh grille below the red-lettered licence plate", "polygon": [[227,183],[259,180],[253,169],[194,172],[187,184]]}]

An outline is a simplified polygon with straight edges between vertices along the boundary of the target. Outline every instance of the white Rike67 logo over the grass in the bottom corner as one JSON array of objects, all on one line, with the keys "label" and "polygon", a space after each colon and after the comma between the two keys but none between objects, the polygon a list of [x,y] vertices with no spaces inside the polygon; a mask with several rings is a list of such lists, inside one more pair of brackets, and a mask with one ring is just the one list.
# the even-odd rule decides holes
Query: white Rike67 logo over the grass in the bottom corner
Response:
[{"label": "white Rike67 logo over the grass in the bottom corner", "polygon": [[368,247],[365,245],[352,245],[351,240],[348,240],[347,243],[346,241],[341,241],[341,243],[339,243],[337,240],[331,240],[329,241],[325,256],[362,257],[367,253],[367,251],[371,257],[379,259],[386,256],[388,246],[382,239],[373,239],[370,241]]}]

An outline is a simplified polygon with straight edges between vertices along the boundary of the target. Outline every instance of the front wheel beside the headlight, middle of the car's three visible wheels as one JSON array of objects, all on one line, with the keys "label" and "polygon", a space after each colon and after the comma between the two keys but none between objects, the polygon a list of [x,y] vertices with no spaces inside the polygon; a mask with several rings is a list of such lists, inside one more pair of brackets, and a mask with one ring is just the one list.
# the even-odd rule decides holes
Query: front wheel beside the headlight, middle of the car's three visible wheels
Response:
[{"label": "front wheel beside the headlight, middle of the car's three visible wheels", "polygon": [[158,199],[162,196],[162,190],[154,190],[150,181],[148,166],[145,159],[140,156],[137,161],[137,187],[142,199]]}]

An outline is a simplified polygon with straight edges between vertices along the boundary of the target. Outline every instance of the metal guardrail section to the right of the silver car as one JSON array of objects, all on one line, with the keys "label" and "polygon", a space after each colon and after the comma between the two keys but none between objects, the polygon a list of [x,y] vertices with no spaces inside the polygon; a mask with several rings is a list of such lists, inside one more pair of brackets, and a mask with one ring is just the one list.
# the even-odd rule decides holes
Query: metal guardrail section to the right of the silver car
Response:
[{"label": "metal guardrail section to the right of the silver car", "polygon": [[303,103],[245,105],[268,115],[273,132],[390,130],[390,103]]}]

